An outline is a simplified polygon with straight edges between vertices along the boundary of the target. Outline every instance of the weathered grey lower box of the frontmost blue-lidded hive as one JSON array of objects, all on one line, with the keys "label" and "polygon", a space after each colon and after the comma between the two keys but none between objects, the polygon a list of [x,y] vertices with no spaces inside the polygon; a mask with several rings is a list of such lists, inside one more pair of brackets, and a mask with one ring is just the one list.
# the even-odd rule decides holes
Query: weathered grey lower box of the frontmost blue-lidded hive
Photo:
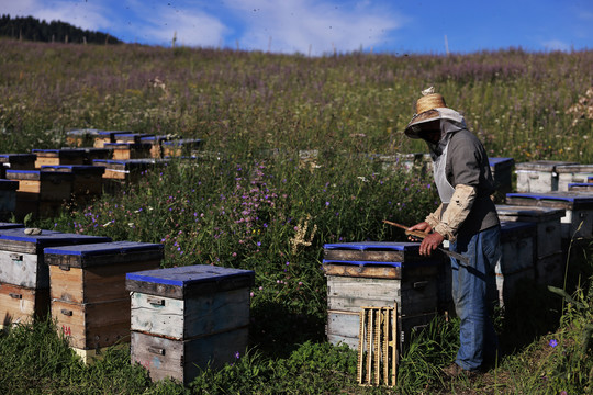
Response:
[{"label": "weathered grey lower box of the frontmost blue-lidded hive", "polygon": [[132,331],[131,358],[150,373],[156,382],[166,377],[189,384],[206,366],[222,368],[245,353],[248,329],[235,329],[194,340],[171,340]]}]

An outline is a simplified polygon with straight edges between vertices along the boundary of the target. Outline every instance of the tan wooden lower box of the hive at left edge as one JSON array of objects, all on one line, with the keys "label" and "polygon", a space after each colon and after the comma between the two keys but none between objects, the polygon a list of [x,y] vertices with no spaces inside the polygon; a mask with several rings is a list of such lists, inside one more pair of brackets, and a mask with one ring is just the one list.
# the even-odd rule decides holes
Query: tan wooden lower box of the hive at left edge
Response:
[{"label": "tan wooden lower box of the hive at left edge", "polygon": [[0,325],[29,324],[49,312],[49,290],[0,284]]}]

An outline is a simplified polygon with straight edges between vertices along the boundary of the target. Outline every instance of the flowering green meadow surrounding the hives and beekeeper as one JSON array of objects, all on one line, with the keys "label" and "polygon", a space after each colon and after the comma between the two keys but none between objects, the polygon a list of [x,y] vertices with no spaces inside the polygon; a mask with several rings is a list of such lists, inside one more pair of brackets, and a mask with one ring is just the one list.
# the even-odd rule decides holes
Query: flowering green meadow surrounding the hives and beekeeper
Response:
[{"label": "flowering green meadow surrounding the hives and beekeeper", "polygon": [[66,146],[74,128],[201,138],[195,159],[29,226],[161,242],[164,267],[256,272],[250,348],[192,385],[152,383],[113,349],[91,366],[51,319],[0,335],[0,392],[76,394],[548,393],[593,391],[591,246],[564,293],[526,289],[499,312],[503,356],[450,381],[458,323],[437,319],[402,356],[395,388],[360,387],[356,352],[324,338],[323,245],[404,240],[438,205],[432,174],[381,158],[425,153],[402,131],[434,86],[491,157],[593,163],[593,52],[336,54],[92,46],[0,40],[1,153]]}]

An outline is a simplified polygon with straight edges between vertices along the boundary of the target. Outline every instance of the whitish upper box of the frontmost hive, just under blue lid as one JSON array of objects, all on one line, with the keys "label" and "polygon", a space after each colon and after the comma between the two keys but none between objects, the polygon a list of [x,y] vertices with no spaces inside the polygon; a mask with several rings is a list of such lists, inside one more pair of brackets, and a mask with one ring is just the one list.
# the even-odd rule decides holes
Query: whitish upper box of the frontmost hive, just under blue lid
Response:
[{"label": "whitish upper box of the frontmost hive, just under blue lid", "polygon": [[249,289],[184,301],[132,293],[132,330],[183,340],[249,325]]}]

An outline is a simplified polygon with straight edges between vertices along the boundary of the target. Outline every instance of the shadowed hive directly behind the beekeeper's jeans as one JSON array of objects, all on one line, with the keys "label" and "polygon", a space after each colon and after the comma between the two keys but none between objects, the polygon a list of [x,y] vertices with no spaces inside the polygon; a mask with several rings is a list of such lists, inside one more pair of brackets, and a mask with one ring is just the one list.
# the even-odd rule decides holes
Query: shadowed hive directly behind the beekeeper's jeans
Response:
[{"label": "shadowed hive directly behind the beekeeper's jeans", "polygon": [[501,222],[501,257],[495,266],[501,306],[508,305],[523,281],[535,280],[536,224]]}]

